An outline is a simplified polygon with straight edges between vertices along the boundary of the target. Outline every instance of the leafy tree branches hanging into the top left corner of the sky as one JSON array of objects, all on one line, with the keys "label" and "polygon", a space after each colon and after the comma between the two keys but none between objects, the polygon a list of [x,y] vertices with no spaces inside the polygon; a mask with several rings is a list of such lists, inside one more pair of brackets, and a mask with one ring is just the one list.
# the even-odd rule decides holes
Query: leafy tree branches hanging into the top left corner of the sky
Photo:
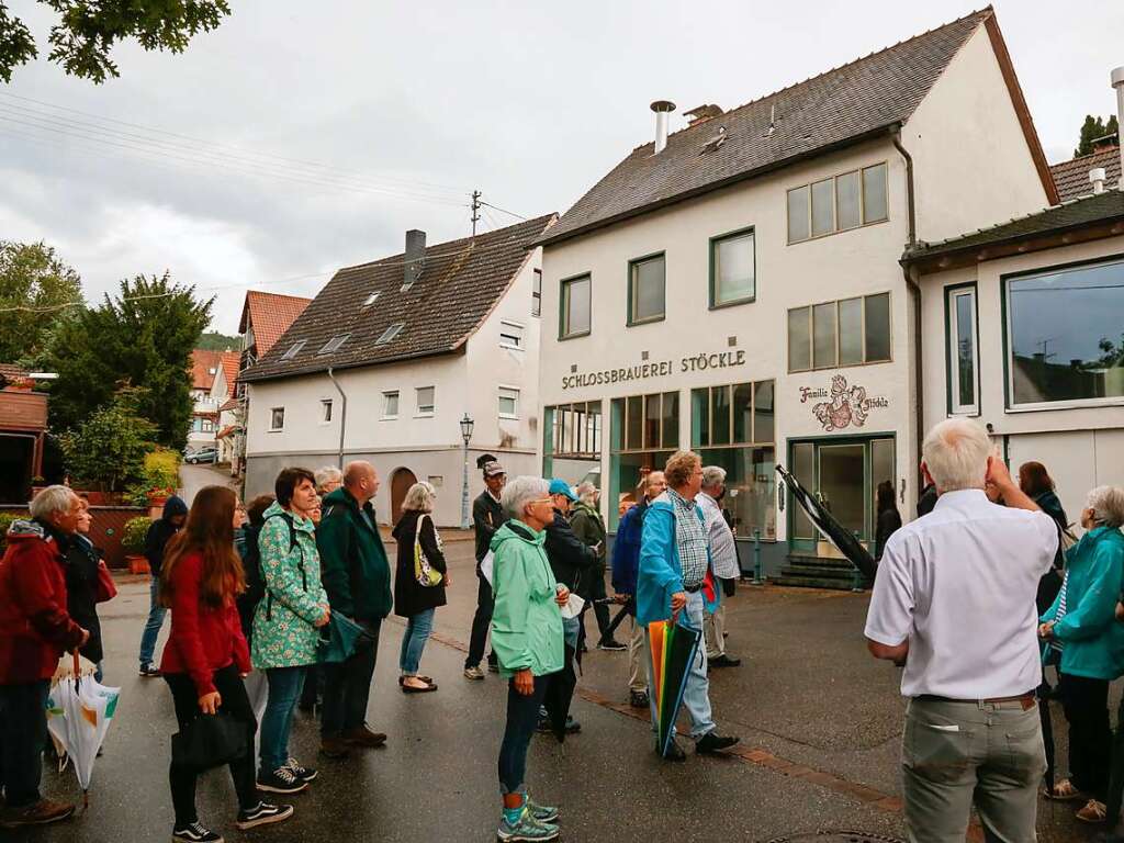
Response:
[{"label": "leafy tree branches hanging into the top left corner of the sky", "polygon": [[[58,15],[47,40],[47,60],[72,76],[100,84],[120,75],[109,57],[118,42],[135,38],[147,51],[182,53],[199,31],[218,28],[230,13],[227,0],[38,0]],[[38,57],[30,29],[0,0],[0,80]]]}]

